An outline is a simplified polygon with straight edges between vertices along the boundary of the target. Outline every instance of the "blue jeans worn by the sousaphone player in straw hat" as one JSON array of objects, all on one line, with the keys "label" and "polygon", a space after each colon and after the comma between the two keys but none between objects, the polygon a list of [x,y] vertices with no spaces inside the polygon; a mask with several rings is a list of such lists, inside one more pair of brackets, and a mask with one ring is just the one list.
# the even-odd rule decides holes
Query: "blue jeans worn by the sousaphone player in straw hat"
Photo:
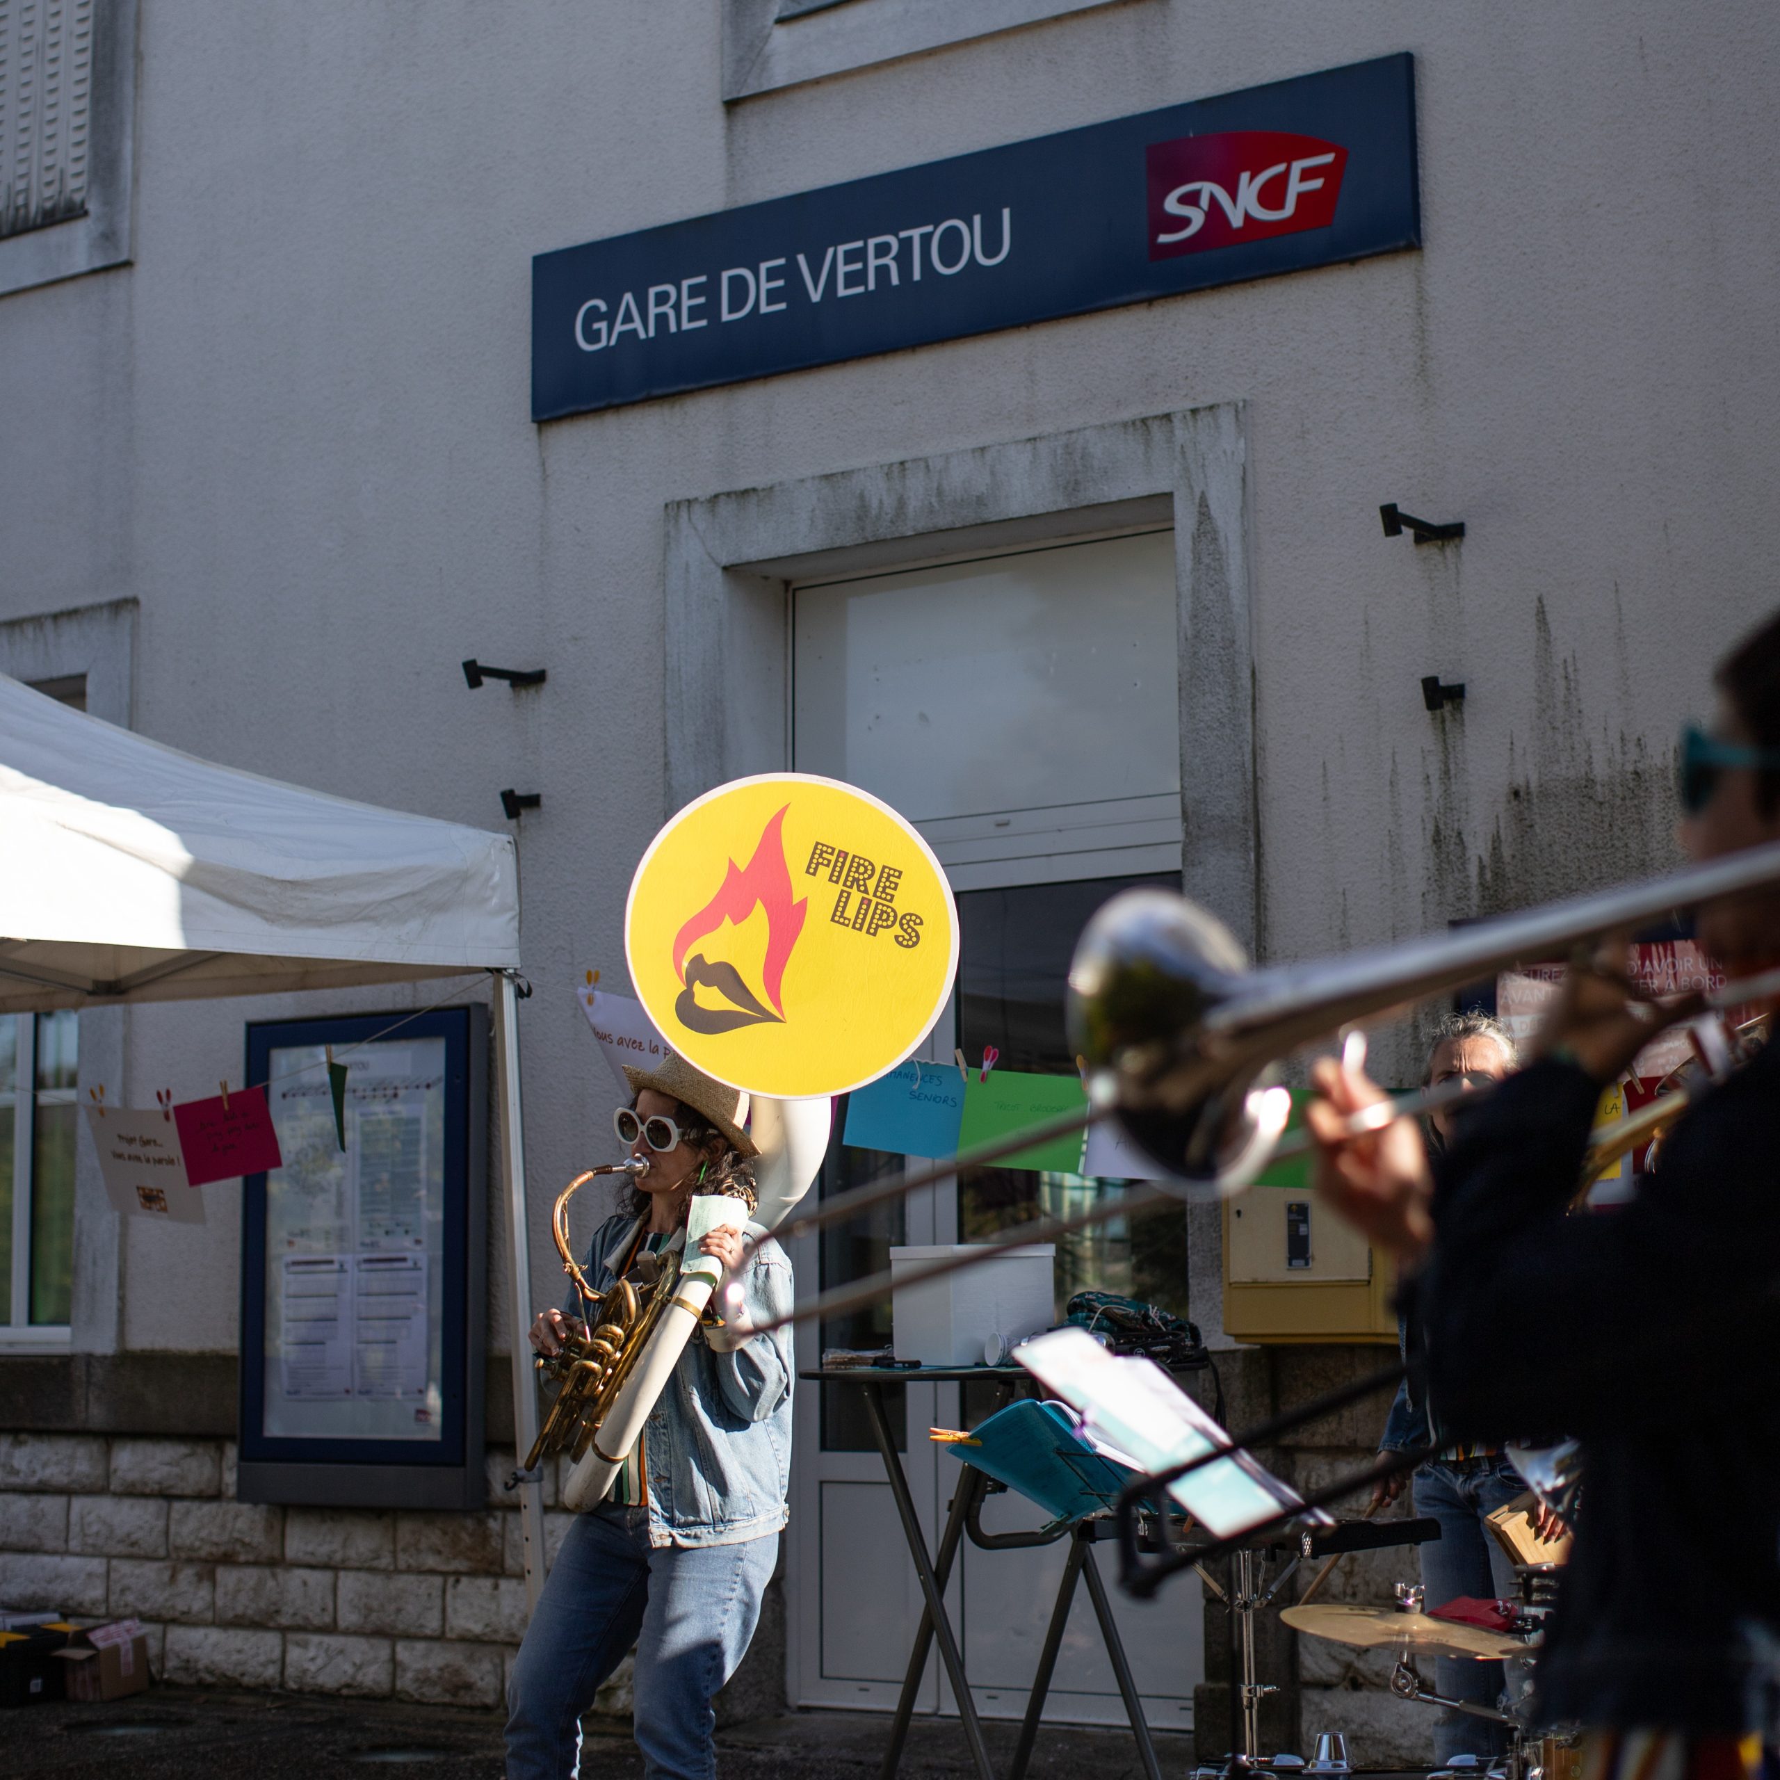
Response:
[{"label": "blue jeans worn by the sousaphone player in straw hat", "polygon": [[507,1682],[507,1780],[575,1780],[580,1714],[635,1643],[635,1723],[650,1780],[714,1780],[717,1689],[740,1666],[778,1534],[650,1549],[648,1509],[577,1515]]}]

